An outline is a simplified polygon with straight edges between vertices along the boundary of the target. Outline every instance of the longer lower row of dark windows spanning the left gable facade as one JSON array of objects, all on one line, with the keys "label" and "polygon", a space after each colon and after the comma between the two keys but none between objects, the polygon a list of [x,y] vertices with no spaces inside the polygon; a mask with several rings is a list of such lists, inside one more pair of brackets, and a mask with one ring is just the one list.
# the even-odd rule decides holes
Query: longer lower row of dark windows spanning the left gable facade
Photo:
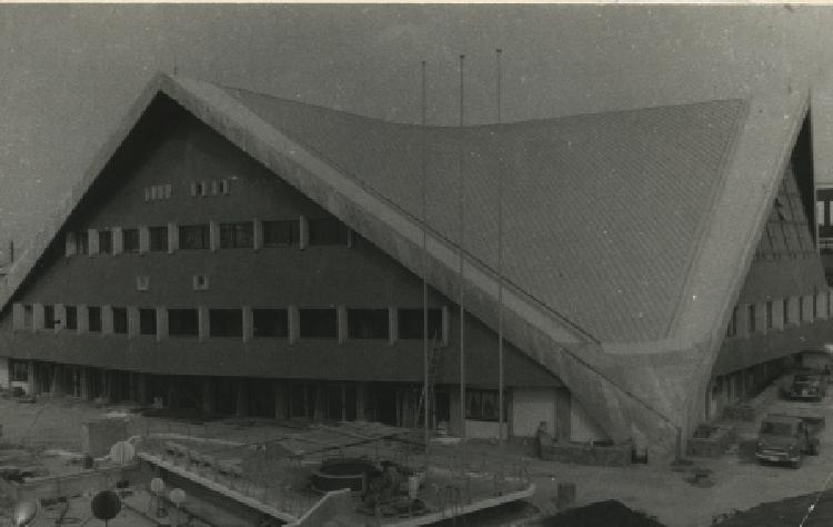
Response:
[{"label": "longer lower row of dark windows spanning the left gable facade", "polygon": [[[99,306],[86,306],[88,331],[100,332],[103,319]],[[66,318],[63,321],[56,318],[56,308],[51,305],[43,306],[44,329],[78,329],[78,306],[64,306]],[[126,307],[112,307],[112,331],[116,335],[128,334],[128,309]],[[139,335],[157,335],[157,310],[154,308],[140,308],[139,310]],[[350,339],[390,339],[390,317],[387,308],[382,309],[347,309],[347,337]],[[242,309],[209,309],[209,335],[211,337],[242,337],[243,336],[243,310]],[[335,339],[339,337],[338,310],[324,309],[299,309],[299,334],[301,338]],[[200,319],[199,311],[194,308],[167,310],[168,335],[170,336],[199,336]],[[19,327],[31,329],[33,327],[32,306],[23,306],[23,319]],[[289,310],[288,309],[252,309],[252,335],[254,337],[289,337]],[[442,310],[428,310],[429,337],[442,337]],[[423,335],[422,309],[400,308],[397,309],[397,337],[400,339],[421,339]]]}]

